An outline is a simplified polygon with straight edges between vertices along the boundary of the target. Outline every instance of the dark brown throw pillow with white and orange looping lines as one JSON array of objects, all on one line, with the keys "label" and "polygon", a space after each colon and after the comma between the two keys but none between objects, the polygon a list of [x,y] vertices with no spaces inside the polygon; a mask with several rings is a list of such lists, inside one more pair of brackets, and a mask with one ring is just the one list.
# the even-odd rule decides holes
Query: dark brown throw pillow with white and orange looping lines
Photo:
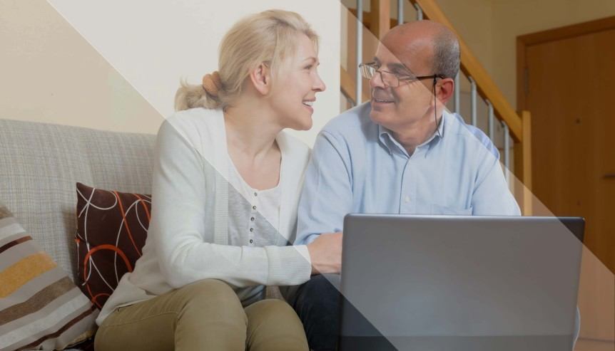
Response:
[{"label": "dark brown throw pillow with white and orange looping lines", "polygon": [[141,257],[150,212],[150,195],[77,183],[77,279],[98,308]]}]

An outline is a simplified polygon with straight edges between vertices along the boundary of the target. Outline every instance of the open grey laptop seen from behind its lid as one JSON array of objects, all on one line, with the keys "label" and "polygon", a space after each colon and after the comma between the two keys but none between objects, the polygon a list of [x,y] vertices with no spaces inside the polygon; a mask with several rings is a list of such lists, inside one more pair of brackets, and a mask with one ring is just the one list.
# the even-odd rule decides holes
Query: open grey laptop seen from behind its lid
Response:
[{"label": "open grey laptop seen from behind its lid", "polygon": [[340,350],[572,350],[579,217],[349,214]]}]

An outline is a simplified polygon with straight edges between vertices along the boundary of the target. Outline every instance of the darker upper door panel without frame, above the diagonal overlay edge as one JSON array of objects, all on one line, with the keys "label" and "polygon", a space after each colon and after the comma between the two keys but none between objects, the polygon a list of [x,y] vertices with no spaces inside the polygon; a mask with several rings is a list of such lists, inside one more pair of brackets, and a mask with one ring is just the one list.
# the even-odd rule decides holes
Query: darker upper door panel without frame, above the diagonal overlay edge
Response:
[{"label": "darker upper door panel without frame, above the diagonal overlay edge", "polygon": [[532,192],[615,271],[615,25],[525,48]]}]

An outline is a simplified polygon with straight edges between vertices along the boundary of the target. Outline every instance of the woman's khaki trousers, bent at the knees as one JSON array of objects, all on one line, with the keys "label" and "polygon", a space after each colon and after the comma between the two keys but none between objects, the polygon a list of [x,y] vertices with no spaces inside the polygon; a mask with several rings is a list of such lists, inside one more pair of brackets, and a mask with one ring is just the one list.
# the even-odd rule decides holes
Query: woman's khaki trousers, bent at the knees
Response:
[{"label": "woman's khaki trousers, bent at the knees", "polygon": [[308,350],[303,325],[283,300],[243,308],[235,291],[206,279],[116,308],[96,333],[96,351]]}]

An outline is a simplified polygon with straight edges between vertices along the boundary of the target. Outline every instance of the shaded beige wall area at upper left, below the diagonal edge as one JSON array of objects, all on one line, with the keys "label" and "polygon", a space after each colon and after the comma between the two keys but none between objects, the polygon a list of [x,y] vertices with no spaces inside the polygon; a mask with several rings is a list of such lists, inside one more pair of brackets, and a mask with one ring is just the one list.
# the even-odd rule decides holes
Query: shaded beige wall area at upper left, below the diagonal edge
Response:
[{"label": "shaded beige wall area at upper left, below the diagonal edge", "polygon": [[151,133],[162,120],[45,0],[0,1],[0,118]]}]

